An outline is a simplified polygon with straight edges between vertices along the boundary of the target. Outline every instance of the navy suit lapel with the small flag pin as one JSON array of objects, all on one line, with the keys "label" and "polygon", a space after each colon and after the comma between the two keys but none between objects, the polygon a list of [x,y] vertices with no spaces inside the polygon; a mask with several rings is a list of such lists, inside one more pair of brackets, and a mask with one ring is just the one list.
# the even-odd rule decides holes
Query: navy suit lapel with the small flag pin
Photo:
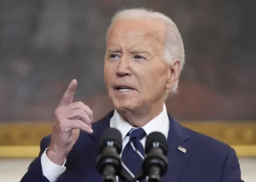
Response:
[{"label": "navy suit lapel with the small flag pin", "polygon": [[189,145],[187,130],[176,122],[172,116],[168,116],[170,120],[170,129],[167,137],[169,167],[162,181],[176,182],[180,178],[187,162],[189,162],[192,155],[192,147]]}]

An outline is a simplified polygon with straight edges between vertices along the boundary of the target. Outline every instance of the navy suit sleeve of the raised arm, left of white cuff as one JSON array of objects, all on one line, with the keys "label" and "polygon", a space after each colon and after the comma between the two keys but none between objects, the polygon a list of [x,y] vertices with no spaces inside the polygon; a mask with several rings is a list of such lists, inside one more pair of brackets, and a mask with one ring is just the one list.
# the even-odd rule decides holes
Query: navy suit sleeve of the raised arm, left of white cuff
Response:
[{"label": "navy suit sleeve of the raised arm, left of white cuff", "polygon": [[29,165],[29,170],[23,176],[20,182],[49,182],[47,178],[42,174],[42,165],[41,165],[41,156],[42,153],[48,148],[50,144],[50,135],[43,138],[40,143],[40,152],[39,156],[34,159],[33,162]]}]

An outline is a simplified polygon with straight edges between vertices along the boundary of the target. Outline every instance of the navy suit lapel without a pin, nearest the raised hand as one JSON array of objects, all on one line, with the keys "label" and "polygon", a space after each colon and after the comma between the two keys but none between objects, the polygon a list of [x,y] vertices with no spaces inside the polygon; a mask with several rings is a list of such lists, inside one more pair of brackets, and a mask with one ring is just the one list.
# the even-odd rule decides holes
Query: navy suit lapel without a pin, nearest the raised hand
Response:
[{"label": "navy suit lapel without a pin, nearest the raised hand", "polygon": [[107,116],[92,125],[94,132],[92,134],[87,134],[89,135],[89,143],[85,144],[84,149],[86,150],[86,156],[89,159],[91,169],[94,173],[94,181],[102,181],[102,175],[98,173],[96,163],[97,157],[99,156],[99,139],[103,130],[110,127],[110,119],[112,116],[113,111],[110,111]]}]

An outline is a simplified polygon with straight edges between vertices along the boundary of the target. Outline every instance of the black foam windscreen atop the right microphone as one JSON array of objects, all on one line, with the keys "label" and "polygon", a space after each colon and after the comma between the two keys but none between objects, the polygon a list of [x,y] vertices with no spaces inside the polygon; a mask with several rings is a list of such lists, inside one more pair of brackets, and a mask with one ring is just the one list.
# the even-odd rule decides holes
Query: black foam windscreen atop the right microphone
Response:
[{"label": "black foam windscreen atop the right microphone", "polygon": [[163,135],[161,132],[151,132],[147,136],[145,144],[145,153],[148,154],[148,151],[150,151],[150,149],[153,147],[159,147],[160,149],[162,149],[163,153],[167,155],[167,141],[165,135]]}]

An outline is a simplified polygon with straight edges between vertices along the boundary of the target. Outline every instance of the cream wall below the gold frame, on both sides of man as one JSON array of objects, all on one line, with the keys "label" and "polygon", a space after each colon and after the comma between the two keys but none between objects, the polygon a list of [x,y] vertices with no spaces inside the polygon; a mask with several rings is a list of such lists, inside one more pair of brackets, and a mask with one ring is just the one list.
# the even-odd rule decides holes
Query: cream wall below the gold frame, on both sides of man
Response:
[{"label": "cream wall below the gold frame, on both sides of man", "polygon": [[[18,182],[26,173],[26,167],[32,159],[1,159],[0,182]],[[242,178],[246,182],[255,182],[256,158],[240,158]]]}]

